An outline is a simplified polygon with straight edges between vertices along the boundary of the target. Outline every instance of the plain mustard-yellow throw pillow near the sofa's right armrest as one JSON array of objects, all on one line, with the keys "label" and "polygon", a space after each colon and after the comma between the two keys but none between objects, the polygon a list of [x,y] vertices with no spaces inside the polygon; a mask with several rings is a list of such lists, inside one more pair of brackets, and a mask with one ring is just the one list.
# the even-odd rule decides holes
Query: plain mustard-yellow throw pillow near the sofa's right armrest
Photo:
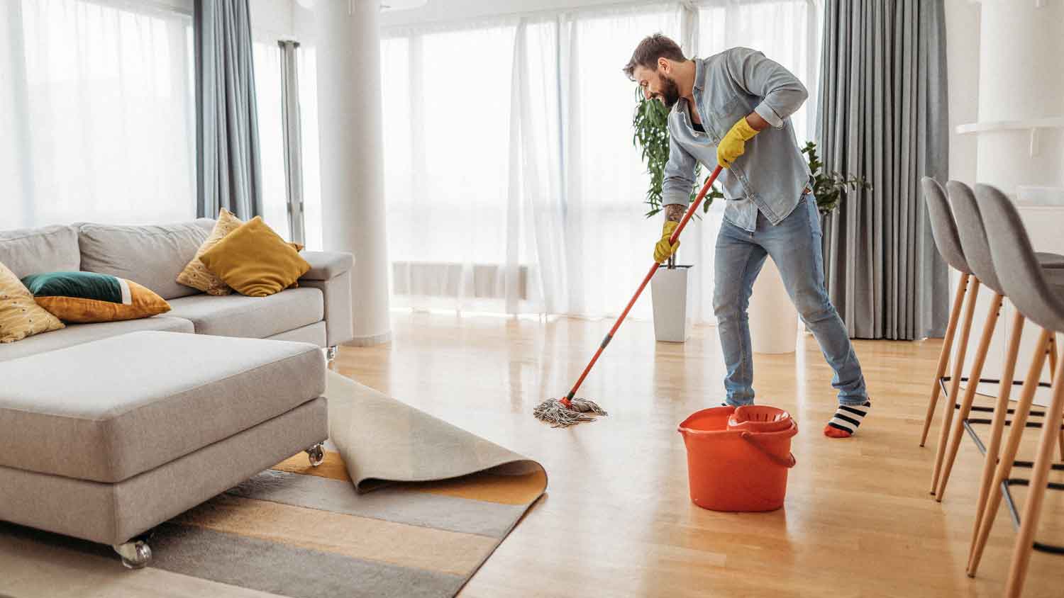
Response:
[{"label": "plain mustard-yellow throw pillow near the sofa's right armrest", "polygon": [[259,216],[215,243],[200,260],[236,292],[253,297],[282,291],[311,269]]}]

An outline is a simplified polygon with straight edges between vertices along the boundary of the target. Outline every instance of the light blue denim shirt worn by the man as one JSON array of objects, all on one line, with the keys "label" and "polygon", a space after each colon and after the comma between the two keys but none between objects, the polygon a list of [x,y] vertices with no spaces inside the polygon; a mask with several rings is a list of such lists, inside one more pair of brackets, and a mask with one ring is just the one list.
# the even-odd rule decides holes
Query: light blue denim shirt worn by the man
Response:
[{"label": "light blue denim shirt worn by the man", "polygon": [[789,118],[808,96],[798,78],[749,48],[695,58],[694,97],[705,133],[694,130],[691,106],[681,98],[668,115],[662,203],[686,206],[696,160],[716,168],[717,143],[738,119],[755,112],[771,126],[747,141],[746,152],[720,172],[728,200],[725,219],[752,232],[760,209],[772,225],[779,224],[798,205],[809,183],[809,165]]}]

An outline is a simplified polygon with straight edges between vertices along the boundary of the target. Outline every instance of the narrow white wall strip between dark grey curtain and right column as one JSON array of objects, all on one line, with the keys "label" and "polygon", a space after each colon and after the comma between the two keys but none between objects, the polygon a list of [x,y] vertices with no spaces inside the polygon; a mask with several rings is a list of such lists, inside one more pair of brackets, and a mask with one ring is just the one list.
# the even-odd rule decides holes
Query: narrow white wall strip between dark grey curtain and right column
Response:
[{"label": "narrow white wall strip between dark grey curtain and right column", "polygon": [[978,138],[959,135],[959,124],[979,120],[980,4],[946,0],[946,72],[949,85],[949,177],[976,183]]}]

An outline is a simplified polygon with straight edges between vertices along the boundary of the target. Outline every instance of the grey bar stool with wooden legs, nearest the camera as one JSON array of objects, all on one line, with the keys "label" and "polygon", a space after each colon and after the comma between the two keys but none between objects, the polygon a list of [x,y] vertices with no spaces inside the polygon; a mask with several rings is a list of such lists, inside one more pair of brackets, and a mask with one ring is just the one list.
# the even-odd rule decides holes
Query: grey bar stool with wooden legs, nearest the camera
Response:
[{"label": "grey bar stool with wooden legs, nearest the camera", "polygon": [[[994,270],[1001,288],[1016,309],[1028,320],[1042,327],[1034,358],[1024,381],[1019,403],[1009,432],[1009,441],[997,464],[993,488],[1002,486],[1002,492],[994,492],[986,500],[985,509],[979,517],[980,527],[972,545],[968,562],[968,575],[975,576],[982,557],[986,539],[994,526],[994,518],[1001,503],[1001,496],[1008,489],[1009,475],[1019,448],[1019,442],[1027,426],[1034,390],[1037,387],[1046,349],[1054,332],[1064,331],[1064,273],[1057,269],[1046,269],[1031,247],[1031,241],[1012,202],[998,189],[988,185],[976,186],[976,203],[982,215],[983,226],[991,249]],[[1003,409],[999,409],[1003,411]],[[997,418],[997,414],[995,414]],[[1019,596],[1030,564],[1031,550],[1035,547],[1034,531],[1037,528],[1046,482],[1052,464],[1053,445],[1058,441],[1061,417],[1064,415],[1064,362],[1057,363],[1053,372],[1052,398],[1045,412],[1045,423],[1038,441],[1037,457],[1034,460],[1030,493],[1024,506],[1019,532],[1013,549],[1007,596]],[[1003,418],[1004,414],[1001,413]],[[987,452],[990,458],[990,452]],[[1038,545],[1043,547],[1043,545]]]}]

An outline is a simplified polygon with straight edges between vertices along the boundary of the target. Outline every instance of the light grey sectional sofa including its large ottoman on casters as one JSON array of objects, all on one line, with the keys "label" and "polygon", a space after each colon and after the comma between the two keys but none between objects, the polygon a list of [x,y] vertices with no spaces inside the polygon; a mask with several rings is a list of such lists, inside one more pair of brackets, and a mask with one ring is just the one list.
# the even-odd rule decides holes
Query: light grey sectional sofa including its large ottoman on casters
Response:
[{"label": "light grey sectional sofa including its large ottoman on casters", "polygon": [[142,567],[153,526],[299,450],[320,464],[320,349],[352,337],[353,259],[303,252],[298,288],[210,296],[176,278],[213,226],[0,232],[0,262],[19,277],[112,274],[172,308],[0,343],[0,519],[111,544]]}]

